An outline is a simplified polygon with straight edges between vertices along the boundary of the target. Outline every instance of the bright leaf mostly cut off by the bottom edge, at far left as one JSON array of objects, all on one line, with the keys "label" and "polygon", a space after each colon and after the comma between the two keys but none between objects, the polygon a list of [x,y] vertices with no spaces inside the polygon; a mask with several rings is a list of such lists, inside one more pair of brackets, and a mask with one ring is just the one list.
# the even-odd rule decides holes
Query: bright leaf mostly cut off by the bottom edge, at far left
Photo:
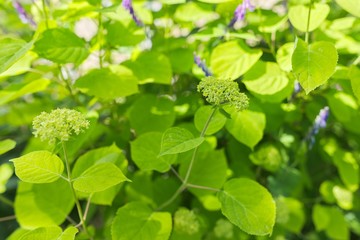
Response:
[{"label": "bright leaf mostly cut off by the bottom edge, at far left", "polygon": [[75,227],[68,227],[64,232],[58,226],[41,227],[25,233],[19,240],[74,240],[77,232]]}]

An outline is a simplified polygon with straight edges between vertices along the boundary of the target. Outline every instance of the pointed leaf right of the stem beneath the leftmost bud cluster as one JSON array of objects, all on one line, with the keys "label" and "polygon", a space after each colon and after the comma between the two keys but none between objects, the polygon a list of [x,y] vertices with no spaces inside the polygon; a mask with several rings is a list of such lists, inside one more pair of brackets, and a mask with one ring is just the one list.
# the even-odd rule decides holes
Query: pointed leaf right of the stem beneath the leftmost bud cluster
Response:
[{"label": "pointed leaf right of the stem beneath the leftmost bud cluster", "polygon": [[113,163],[99,163],[91,166],[79,177],[74,179],[74,189],[80,192],[100,192],[117,185],[121,182],[129,181],[122,171]]}]

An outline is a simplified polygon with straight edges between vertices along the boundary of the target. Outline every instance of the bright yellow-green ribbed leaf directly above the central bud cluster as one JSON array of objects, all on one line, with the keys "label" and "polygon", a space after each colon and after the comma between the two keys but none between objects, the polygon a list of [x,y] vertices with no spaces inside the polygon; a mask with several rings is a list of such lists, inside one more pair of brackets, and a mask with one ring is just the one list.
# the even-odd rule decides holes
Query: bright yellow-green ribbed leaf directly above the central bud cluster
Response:
[{"label": "bright yellow-green ribbed leaf directly above the central bud cluster", "polygon": [[247,72],[261,55],[261,50],[250,49],[243,41],[229,41],[214,48],[210,67],[215,76],[234,80]]}]

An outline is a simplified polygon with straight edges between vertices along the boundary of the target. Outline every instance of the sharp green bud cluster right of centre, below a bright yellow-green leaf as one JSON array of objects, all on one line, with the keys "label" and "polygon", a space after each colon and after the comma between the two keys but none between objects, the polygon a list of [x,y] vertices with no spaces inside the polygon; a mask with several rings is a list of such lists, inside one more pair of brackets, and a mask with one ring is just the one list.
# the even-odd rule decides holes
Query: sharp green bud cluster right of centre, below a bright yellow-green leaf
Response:
[{"label": "sharp green bud cluster right of centre, below a bright yellow-green leaf", "polygon": [[229,79],[203,78],[198,85],[198,91],[202,93],[206,101],[215,106],[230,104],[238,111],[249,106],[248,97],[239,91],[236,82]]}]

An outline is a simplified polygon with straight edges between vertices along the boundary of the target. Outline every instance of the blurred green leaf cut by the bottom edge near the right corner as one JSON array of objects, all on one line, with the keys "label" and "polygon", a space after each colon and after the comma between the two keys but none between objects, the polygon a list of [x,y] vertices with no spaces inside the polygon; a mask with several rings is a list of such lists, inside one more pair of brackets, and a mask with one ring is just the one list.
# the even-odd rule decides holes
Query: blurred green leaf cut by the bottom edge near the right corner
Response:
[{"label": "blurred green leaf cut by the bottom edge near the right corner", "polygon": [[349,228],[337,207],[315,205],[312,219],[317,231],[325,230],[330,239],[349,239]]}]

